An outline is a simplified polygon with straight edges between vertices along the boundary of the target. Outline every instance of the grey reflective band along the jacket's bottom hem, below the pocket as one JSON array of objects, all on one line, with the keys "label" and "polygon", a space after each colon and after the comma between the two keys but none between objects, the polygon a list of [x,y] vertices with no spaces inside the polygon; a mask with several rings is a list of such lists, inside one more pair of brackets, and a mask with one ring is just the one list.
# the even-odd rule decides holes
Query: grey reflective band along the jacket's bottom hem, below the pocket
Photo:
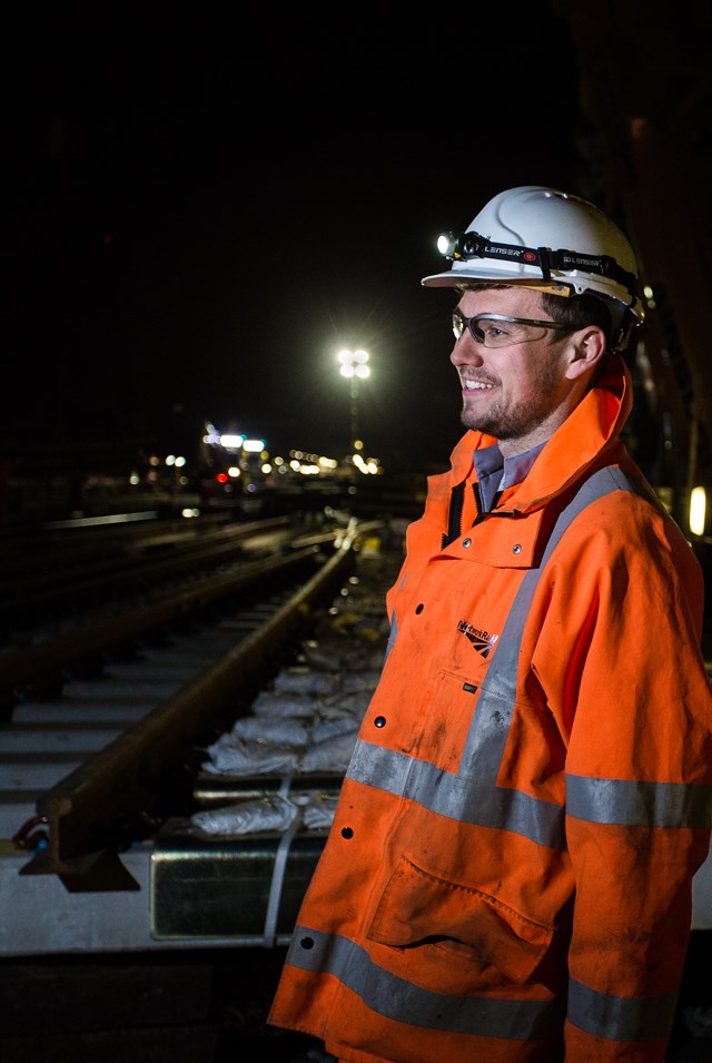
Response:
[{"label": "grey reflective band along the jacket's bottom hem, below the pocket", "polygon": [[306,926],[297,926],[286,962],[304,971],[333,974],[372,1011],[411,1026],[477,1037],[536,1041],[561,1033],[564,1020],[563,1001],[431,993],[373,963],[368,953],[349,938]]}]

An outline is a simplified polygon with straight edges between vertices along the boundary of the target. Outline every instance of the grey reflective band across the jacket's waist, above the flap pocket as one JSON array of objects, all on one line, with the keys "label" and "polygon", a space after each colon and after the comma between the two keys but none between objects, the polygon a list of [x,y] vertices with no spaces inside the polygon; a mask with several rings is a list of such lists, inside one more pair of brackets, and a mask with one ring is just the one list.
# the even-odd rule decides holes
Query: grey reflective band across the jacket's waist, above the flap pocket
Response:
[{"label": "grey reflective band across the jacket's waist, above the flap pocket", "polygon": [[359,740],[354,749],[347,778],[406,797],[448,819],[513,830],[538,845],[565,849],[564,809],[537,800],[521,790],[465,783],[425,760],[383,749]]}]

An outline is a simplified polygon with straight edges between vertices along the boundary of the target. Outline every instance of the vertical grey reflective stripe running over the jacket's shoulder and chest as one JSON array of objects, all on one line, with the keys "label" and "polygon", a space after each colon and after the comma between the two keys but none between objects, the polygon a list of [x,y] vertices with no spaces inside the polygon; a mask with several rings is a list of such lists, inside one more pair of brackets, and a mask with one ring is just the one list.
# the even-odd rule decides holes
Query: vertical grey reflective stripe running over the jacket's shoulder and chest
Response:
[{"label": "vertical grey reflective stripe running over the jacket's shoulder and chest", "polygon": [[627,478],[619,469],[600,469],[584,481],[568,505],[558,514],[542,560],[538,567],[530,569],[522,580],[502,629],[497,650],[477,699],[477,711],[463,750],[461,771],[476,775],[481,781],[495,785],[514,711],[524,626],[542,572],[572,521],[592,502],[619,490],[633,490]]}]

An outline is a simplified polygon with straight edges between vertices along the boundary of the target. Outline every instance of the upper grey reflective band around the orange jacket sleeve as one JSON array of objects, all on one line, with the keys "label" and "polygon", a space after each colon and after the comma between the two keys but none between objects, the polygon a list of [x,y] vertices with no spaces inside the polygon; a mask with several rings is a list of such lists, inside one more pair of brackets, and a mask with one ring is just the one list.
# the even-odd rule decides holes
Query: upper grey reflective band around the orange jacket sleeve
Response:
[{"label": "upper grey reflective band around the orange jacket sleeve", "polygon": [[712,786],[566,776],[566,811],[626,827],[710,827]]}]

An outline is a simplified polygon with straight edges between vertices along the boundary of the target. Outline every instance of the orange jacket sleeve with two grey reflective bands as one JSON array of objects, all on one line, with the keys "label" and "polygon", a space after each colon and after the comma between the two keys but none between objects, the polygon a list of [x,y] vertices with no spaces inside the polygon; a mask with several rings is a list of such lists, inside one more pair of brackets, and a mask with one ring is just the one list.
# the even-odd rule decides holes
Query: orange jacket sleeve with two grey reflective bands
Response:
[{"label": "orange jacket sleeve with two grey reflective bands", "polygon": [[641,499],[606,500],[572,531],[552,559],[533,652],[567,744],[566,1060],[654,1063],[712,821],[702,578],[676,525]]}]

